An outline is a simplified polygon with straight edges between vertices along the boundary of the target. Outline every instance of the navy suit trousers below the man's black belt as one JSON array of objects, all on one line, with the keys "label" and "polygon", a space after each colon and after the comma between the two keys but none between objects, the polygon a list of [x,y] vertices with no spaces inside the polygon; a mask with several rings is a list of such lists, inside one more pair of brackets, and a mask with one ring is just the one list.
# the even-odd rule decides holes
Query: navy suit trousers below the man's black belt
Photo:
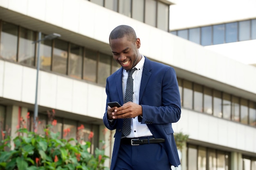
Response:
[{"label": "navy suit trousers below the man's black belt", "polygon": [[114,170],[171,170],[171,165],[162,143],[120,144]]}]

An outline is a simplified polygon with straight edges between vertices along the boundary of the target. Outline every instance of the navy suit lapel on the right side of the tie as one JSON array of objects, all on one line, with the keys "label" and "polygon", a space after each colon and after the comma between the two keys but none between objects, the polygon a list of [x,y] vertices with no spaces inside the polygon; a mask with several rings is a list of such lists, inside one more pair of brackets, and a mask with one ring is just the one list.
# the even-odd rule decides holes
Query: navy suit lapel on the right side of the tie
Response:
[{"label": "navy suit lapel on the right side of the tie", "polygon": [[148,79],[151,76],[151,64],[150,60],[145,57],[145,62],[143,66],[143,72],[141,77],[141,84],[140,84],[140,90],[139,90],[139,103],[141,102],[142,95],[145,91],[146,85],[148,83]]}]

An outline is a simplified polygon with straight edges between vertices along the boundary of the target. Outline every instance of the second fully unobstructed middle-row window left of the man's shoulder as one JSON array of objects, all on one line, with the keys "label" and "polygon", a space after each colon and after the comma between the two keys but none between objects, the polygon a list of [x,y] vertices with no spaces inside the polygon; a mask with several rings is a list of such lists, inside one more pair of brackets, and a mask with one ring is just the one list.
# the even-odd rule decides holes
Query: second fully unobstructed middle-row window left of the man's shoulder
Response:
[{"label": "second fully unobstructed middle-row window left of the man's shoulder", "polygon": [[75,44],[70,45],[68,74],[74,78],[82,78],[83,48]]}]

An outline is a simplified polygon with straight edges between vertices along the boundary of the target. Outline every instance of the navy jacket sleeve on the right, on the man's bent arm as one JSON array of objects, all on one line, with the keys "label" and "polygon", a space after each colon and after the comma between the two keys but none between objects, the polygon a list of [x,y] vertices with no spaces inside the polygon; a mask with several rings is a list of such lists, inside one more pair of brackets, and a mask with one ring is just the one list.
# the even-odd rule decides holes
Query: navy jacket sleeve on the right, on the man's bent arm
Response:
[{"label": "navy jacket sleeve on the right, on the man's bent arm", "polygon": [[141,123],[166,124],[180,119],[181,101],[175,70],[167,67],[151,75],[150,87],[145,89],[140,105],[143,117]]}]

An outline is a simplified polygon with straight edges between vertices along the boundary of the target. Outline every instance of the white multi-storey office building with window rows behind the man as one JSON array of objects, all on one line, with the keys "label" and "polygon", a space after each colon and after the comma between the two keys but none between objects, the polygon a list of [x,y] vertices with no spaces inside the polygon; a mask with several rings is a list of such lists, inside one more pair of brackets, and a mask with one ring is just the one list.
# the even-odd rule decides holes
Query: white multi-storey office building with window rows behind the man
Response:
[{"label": "white multi-storey office building with window rows behind the man", "polygon": [[[256,67],[254,61],[231,58],[241,54],[238,46],[250,50],[242,58],[255,56],[249,48],[256,41],[250,2],[242,18],[191,22],[191,11],[190,20],[182,18],[189,12],[184,7],[190,6],[182,0],[0,0],[1,131],[15,136],[18,118],[28,112],[33,118],[38,52],[33,42],[39,32],[42,39],[58,33],[61,37],[40,42],[38,133],[51,123],[48,115],[54,109],[55,130],[62,138],[75,137],[83,124],[85,140],[94,133],[91,153],[105,140],[111,157],[115,132],[106,131],[102,122],[105,84],[120,66],[112,59],[108,36],[126,24],[141,39],[141,54],[176,70],[182,116],[173,129],[189,135],[179,168],[256,170]],[[243,48],[241,43],[251,45]],[[33,119],[27,122],[33,130]],[[68,135],[65,129],[70,129]]]}]

